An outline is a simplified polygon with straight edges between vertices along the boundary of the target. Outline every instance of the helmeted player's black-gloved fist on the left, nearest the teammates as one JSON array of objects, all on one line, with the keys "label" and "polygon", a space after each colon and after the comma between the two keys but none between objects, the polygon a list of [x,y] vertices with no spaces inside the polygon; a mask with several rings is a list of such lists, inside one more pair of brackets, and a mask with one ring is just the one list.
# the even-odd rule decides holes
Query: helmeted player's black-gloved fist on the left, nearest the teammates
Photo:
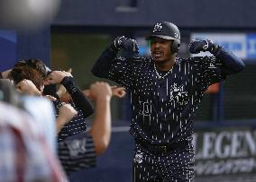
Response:
[{"label": "helmeted player's black-gloved fist on the left, nearest the teammates", "polygon": [[131,52],[133,54],[139,53],[139,48],[136,40],[128,39],[128,38],[125,38],[124,36],[115,38],[114,42],[112,43],[112,47],[118,50],[123,48],[123,50]]}]

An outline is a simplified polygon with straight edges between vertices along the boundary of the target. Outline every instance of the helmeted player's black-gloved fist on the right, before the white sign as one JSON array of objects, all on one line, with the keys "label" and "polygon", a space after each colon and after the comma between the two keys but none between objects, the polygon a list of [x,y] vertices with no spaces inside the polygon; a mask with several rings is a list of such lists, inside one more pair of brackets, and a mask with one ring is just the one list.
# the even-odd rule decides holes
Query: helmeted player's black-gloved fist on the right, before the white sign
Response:
[{"label": "helmeted player's black-gloved fist on the right, before the white sign", "polygon": [[215,44],[210,39],[193,39],[190,44],[188,45],[188,51],[191,54],[198,54],[199,52],[203,51],[209,51],[213,53],[215,49]]}]

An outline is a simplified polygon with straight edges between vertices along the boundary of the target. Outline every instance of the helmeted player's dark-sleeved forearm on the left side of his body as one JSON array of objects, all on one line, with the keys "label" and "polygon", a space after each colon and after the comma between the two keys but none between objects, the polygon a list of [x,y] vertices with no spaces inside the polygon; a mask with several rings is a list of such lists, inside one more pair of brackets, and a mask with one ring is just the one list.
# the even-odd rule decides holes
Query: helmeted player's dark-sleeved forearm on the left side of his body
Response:
[{"label": "helmeted player's dark-sleeved forearm on the left side of his body", "polygon": [[95,65],[92,68],[92,74],[100,78],[106,78],[111,64],[117,55],[118,50],[114,48],[106,48],[105,51],[96,60]]}]

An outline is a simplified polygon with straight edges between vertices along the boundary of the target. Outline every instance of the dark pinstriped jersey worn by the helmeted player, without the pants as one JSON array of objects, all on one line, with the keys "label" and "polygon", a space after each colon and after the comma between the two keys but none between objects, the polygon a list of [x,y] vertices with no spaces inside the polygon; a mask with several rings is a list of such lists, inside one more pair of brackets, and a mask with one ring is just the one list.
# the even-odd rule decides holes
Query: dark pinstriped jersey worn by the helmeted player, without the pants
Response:
[{"label": "dark pinstriped jersey worn by the helmeted player, without the pants", "polygon": [[152,58],[117,57],[108,75],[131,93],[131,134],[153,144],[191,140],[204,91],[224,77],[215,56],[177,58],[166,73],[157,70]]}]

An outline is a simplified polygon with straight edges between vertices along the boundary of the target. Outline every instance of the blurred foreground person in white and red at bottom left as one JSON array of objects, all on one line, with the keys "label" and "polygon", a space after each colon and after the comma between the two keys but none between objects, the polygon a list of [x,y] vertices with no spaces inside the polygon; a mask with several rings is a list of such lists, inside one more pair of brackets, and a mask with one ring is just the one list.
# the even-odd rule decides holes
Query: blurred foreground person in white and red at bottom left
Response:
[{"label": "blurred foreground person in white and red at bottom left", "polygon": [[0,80],[0,112],[0,181],[67,181],[41,126],[7,80]]}]

